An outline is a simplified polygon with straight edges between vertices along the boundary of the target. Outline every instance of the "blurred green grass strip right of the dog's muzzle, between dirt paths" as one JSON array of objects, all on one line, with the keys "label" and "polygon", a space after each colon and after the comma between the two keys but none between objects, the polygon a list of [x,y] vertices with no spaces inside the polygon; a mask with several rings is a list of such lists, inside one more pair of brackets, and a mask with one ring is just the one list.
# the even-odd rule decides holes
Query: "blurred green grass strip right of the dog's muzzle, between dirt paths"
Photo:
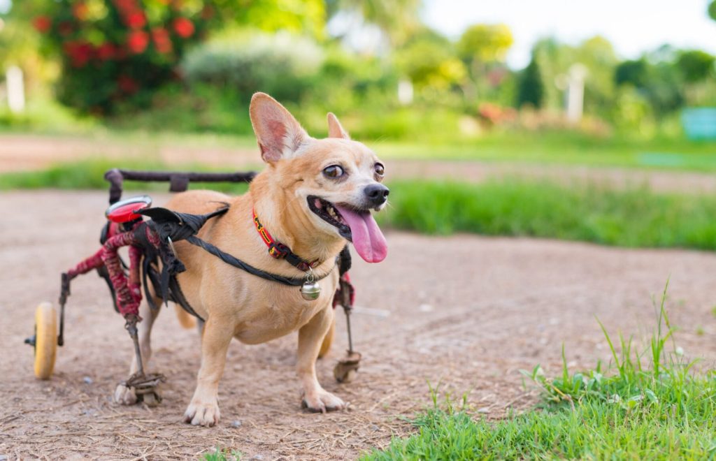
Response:
[{"label": "blurred green grass strip right of the dog's muzzle, between dirt paths", "polygon": [[474,232],[624,247],[716,249],[716,198],[512,179],[392,182],[384,224],[427,234]]}]

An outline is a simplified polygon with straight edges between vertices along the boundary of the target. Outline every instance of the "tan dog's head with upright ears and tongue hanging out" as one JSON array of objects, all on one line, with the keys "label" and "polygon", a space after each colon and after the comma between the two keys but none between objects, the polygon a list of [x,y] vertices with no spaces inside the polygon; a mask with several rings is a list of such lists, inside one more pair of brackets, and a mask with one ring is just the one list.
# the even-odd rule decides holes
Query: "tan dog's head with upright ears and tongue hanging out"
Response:
[{"label": "tan dog's head with upright ears and tongue hanging out", "polygon": [[371,210],[386,206],[389,190],[376,154],[352,141],[331,113],[329,137],[314,139],[268,94],[254,94],[249,112],[261,158],[289,197],[286,213],[314,232],[353,242],[367,262],[382,261],[387,243]]}]

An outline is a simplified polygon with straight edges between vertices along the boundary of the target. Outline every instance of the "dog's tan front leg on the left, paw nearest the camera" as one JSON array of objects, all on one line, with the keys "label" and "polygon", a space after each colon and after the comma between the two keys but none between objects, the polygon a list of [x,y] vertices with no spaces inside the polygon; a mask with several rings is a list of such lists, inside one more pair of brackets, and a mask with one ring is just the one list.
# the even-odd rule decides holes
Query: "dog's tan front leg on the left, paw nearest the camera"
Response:
[{"label": "dog's tan front leg on the left, paw nearest the camera", "polygon": [[184,413],[185,422],[195,426],[213,426],[219,422],[218,386],[233,333],[231,319],[210,317],[204,325],[201,368],[194,397]]}]

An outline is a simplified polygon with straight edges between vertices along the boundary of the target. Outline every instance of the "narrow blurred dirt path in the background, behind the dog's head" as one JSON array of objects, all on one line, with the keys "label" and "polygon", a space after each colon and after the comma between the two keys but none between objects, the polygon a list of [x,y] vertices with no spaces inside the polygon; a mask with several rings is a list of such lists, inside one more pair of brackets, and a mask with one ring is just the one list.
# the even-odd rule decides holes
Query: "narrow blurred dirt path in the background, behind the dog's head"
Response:
[{"label": "narrow blurred dirt path in the background, behind the dog's head", "polygon": [[[0,135],[0,173],[42,169],[59,162],[97,157],[157,159],[178,168],[201,163],[220,169],[252,169],[260,164],[258,150],[217,145],[184,145],[178,141],[127,140],[113,137],[39,137]],[[697,172],[670,172],[655,169],[580,167],[554,164],[509,162],[453,162],[440,160],[393,159],[388,163],[391,178],[448,178],[483,181],[500,177],[531,177],[558,182],[599,182],[611,187],[641,187],[657,191],[716,192],[716,175]]]}]

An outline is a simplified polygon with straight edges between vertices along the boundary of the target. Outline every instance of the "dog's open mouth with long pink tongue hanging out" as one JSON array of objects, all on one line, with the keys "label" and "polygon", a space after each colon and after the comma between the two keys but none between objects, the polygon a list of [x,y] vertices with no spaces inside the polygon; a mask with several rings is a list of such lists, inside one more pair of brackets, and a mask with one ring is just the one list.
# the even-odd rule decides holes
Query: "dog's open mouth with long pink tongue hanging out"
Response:
[{"label": "dog's open mouth with long pink tongue hanging out", "polygon": [[353,243],[356,251],[367,262],[381,262],[388,253],[387,242],[368,209],[356,209],[348,204],[333,204],[326,199],[310,195],[309,209],[331,224],[338,234]]}]

